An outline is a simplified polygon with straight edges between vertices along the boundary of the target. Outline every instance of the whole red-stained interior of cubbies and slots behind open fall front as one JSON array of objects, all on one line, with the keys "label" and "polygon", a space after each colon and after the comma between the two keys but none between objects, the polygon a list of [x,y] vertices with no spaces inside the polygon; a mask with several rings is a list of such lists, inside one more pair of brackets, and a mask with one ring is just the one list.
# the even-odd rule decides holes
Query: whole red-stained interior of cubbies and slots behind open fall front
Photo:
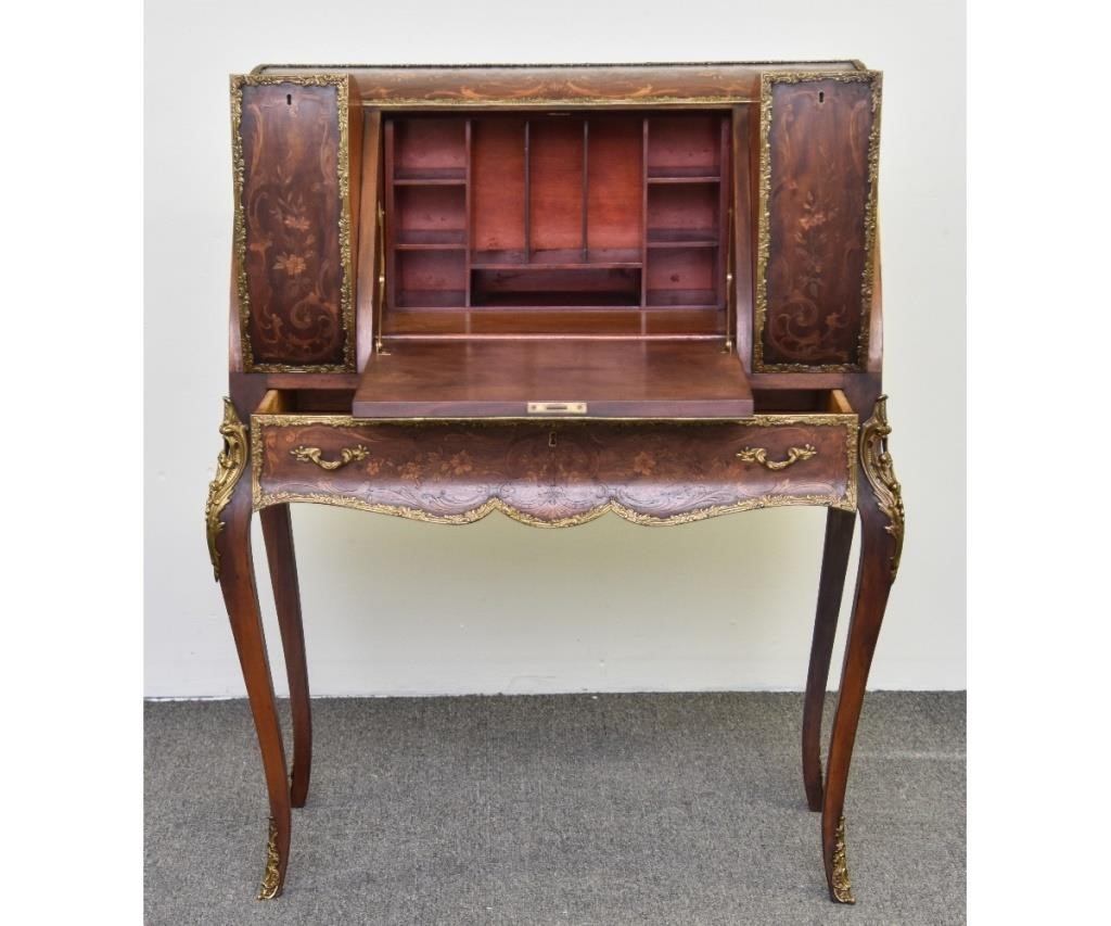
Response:
[{"label": "whole red-stained interior of cubbies and slots behind open fall front", "polygon": [[[543,309],[573,335],[605,309],[589,333],[719,336],[729,127],[704,110],[391,116],[386,310],[458,309],[452,330],[474,335],[490,327],[471,312],[501,310],[499,332],[529,333]],[[652,309],[702,315],[649,322]],[[429,330],[411,312],[390,330],[407,325]]]}]

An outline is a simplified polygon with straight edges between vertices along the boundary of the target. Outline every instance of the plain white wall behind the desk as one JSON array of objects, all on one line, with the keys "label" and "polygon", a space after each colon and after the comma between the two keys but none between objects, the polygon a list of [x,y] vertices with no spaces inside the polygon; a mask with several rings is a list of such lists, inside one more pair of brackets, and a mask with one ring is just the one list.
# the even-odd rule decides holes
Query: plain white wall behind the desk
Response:
[{"label": "plain white wall behind the desk", "polygon": [[[243,693],[201,511],[227,391],[228,74],[264,61],[848,57],[884,71],[884,386],[908,532],[871,687],[964,687],[963,3],[518,0],[433,9],[147,3],[147,694]],[[660,530],[612,516],[538,530],[500,515],[446,528],[293,510],[314,695],[803,685],[821,509]],[[257,529],[256,541],[284,694]]]}]

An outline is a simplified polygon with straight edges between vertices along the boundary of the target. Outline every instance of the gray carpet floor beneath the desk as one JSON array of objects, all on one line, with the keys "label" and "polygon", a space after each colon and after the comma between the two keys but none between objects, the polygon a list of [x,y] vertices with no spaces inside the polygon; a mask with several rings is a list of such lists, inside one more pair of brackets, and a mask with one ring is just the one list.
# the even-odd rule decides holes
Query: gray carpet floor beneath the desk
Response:
[{"label": "gray carpet floor beneath the desk", "polygon": [[146,922],[963,923],[964,705],[868,695],[845,809],[857,906],[839,907],[801,695],[313,700],[309,803],[269,903],[247,703],[148,703]]}]

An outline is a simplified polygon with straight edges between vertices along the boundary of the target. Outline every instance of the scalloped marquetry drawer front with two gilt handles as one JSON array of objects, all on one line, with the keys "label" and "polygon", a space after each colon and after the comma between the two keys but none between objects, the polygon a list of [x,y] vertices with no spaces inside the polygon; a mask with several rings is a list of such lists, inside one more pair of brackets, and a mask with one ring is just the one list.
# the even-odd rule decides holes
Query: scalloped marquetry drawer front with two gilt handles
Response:
[{"label": "scalloped marquetry drawer front with two gilt handles", "polygon": [[777,505],[857,506],[851,415],[737,422],[379,422],[251,417],[254,507],[317,501],[441,524],[547,527],[614,511],[682,524]]}]

